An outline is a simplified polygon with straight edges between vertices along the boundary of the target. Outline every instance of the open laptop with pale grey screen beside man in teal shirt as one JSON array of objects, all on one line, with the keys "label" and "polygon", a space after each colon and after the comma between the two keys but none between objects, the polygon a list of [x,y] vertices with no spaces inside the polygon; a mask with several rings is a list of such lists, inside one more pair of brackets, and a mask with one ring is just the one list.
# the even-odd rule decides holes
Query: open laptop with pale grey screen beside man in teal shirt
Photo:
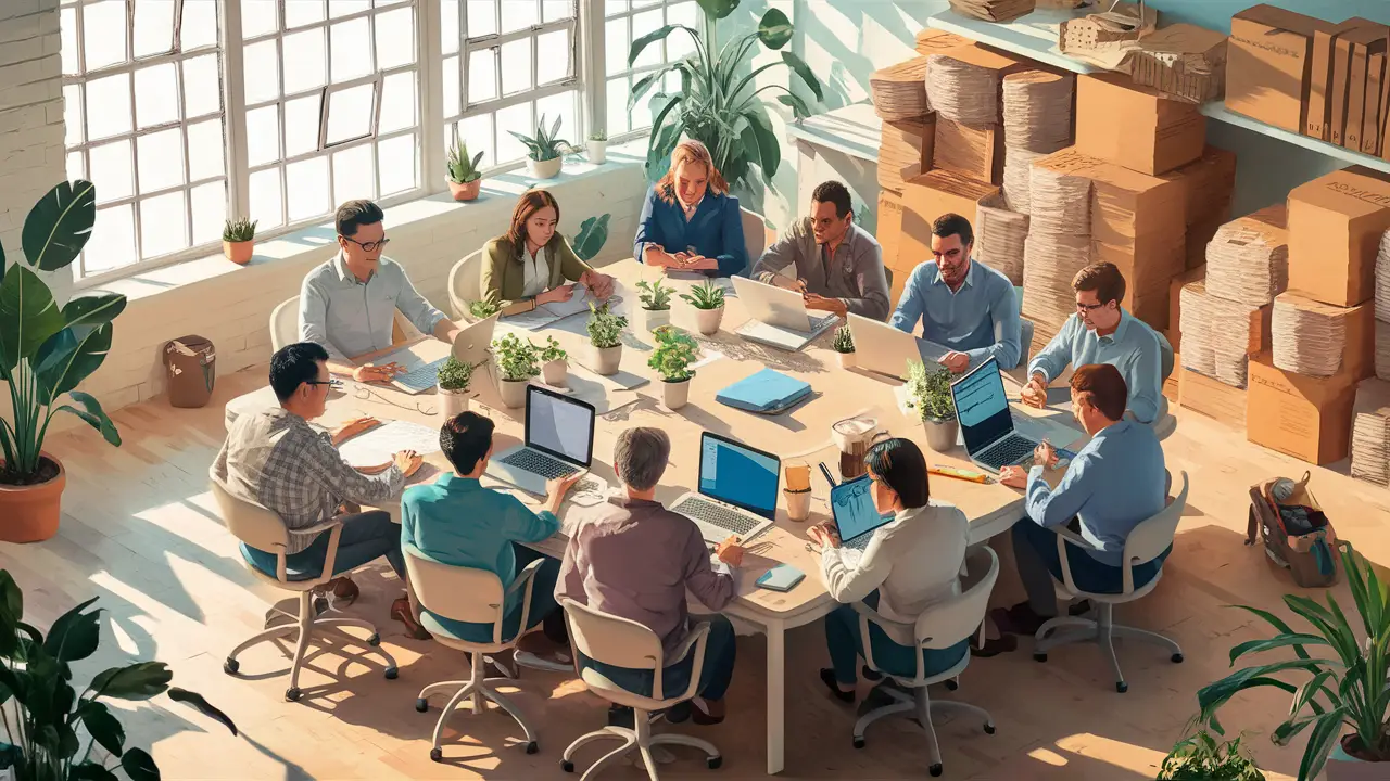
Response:
[{"label": "open laptop with pale grey screen beside man in teal shirt", "polygon": [[525,443],[493,456],[488,477],[545,496],[548,481],[588,471],[594,459],[594,404],[528,385]]}]

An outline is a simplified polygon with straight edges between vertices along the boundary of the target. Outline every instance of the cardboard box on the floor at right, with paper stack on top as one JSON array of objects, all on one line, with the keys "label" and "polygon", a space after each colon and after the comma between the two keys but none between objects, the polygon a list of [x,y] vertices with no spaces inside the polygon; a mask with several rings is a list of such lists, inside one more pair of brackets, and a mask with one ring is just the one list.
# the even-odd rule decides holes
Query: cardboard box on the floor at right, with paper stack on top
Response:
[{"label": "cardboard box on the floor at right, with paper stack on top", "polygon": [[1304,377],[1250,359],[1245,439],[1312,464],[1347,457],[1357,379],[1348,372]]}]

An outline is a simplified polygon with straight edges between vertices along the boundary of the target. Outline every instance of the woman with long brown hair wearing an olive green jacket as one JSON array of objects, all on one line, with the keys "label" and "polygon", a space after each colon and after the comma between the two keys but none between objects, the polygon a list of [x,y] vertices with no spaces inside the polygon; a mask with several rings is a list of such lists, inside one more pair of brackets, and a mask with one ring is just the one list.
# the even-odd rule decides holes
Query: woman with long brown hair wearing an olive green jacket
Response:
[{"label": "woman with long brown hair wearing an olive green jacket", "polygon": [[613,278],[580,260],[556,231],[559,224],[560,204],[555,196],[527,190],[512,210],[507,232],[482,249],[482,296],[498,302],[502,314],[567,302],[574,295],[573,282],[592,290],[596,299],[613,295]]}]

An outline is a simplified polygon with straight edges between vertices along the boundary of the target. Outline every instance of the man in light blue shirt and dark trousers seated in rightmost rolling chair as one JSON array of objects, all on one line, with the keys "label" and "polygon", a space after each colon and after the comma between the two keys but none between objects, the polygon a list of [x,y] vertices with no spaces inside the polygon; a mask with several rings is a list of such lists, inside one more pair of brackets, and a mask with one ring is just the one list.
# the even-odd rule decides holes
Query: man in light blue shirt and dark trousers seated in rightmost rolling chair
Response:
[{"label": "man in light blue shirt and dark trousers seated in rightmost rolling chair", "polygon": [[[1055,489],[1042,477],[1056,463],[1051,445],[1034,453],[1034,466],[1005,467],[999,482],[1024,489],[1027,517],[1013,524],[1013,556],[1029,600],[991,613],[1001,632],[1034,634],[1056,616],[1052,578],[1062,579],[1056,532],[1073,518],[1088,548],[1068,542],[1068,568],[1077,588],[1091,593],[1123,589],[1125,541],[1140,523],[1168,504],[1163,449],[1152,429],[1125,420],[1129,389],[1111,364],[1084,365],[1072,375],[1072,414],[1091,441],[1081,447]],[[1133,566],[1134,588],[1151,579],[1172,548]]]}]

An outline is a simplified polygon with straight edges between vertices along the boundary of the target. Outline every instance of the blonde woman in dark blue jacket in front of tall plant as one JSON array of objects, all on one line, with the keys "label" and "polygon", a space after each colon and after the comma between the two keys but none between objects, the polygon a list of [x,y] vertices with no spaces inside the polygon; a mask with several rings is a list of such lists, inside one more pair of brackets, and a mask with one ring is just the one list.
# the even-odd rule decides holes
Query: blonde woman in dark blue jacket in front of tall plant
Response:
[{"label": "blonde woman in dark blue jacket in front of tall plant", "polygon": [[671,167],[646,192],[632,254],[667,271],[733,277],[748,270],[738,199],[703,143],[676,145]]}]

